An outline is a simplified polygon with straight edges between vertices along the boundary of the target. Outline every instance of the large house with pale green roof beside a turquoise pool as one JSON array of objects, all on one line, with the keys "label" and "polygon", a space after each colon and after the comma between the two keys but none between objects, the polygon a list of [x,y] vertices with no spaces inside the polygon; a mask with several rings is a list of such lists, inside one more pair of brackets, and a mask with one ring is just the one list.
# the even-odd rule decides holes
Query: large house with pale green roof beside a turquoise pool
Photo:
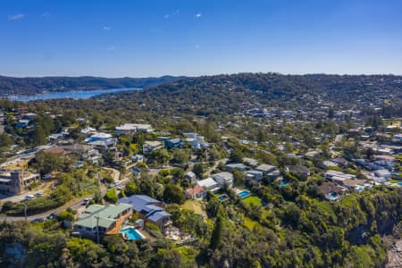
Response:
[{"label": "large house with pale green roof beside a turquoise pool", "polygon": [[89,205],[74,222],[74,230],[81,235],[118,234],[121,223],[130,218],[131,205]]}]

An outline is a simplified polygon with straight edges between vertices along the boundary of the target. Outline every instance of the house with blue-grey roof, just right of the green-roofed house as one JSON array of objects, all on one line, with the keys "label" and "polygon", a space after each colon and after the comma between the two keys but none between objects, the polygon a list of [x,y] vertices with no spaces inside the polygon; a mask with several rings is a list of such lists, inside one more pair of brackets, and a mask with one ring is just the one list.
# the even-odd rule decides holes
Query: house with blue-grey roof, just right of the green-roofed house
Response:
[{"label": "house with blue-grey roof, just right of the green-roofed house", "polygon": [[152,197],[145,195],[134,195],[131,197],[122,197],[120,204],[130,205],[138,217],[147,222],[152,222],[161,230],[165,230],[172,225],[171,216],[164,208],[163,203]]}]

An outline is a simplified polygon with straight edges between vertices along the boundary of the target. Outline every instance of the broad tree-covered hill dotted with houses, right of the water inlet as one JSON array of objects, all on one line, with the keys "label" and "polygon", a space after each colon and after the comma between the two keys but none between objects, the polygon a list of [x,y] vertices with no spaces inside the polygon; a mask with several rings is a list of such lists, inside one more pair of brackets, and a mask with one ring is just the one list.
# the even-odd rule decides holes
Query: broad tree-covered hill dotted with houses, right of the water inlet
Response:
[{"label": "broad tree-covered hill dotted with houses, right of the water inlet", "polygon": [[[239,73],[177,80],[138,92],[121,92],[118,99],[130,99],[153,112],[230,113],[245,103],[304,105],[317,103],[356,104],[381,97],[402,99],[402,77],[393,75],[281,75]],[[99,96],[108,97],[108,96]]]}]

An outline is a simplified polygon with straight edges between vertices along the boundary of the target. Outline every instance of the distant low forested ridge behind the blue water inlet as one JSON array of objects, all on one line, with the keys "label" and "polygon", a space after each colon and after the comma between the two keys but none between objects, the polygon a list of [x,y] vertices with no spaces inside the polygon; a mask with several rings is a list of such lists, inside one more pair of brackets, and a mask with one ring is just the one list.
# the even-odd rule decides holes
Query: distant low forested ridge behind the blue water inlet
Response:
[{"label": "distant low forested ridge behind the blue water inlet", "polygon": [[102,77],[43,77],[14,78],[0,76],[0,96],[33,95],[43,91],[93,90],[107,88],[147,88],[184,77],[163,76],[159,78]]}]

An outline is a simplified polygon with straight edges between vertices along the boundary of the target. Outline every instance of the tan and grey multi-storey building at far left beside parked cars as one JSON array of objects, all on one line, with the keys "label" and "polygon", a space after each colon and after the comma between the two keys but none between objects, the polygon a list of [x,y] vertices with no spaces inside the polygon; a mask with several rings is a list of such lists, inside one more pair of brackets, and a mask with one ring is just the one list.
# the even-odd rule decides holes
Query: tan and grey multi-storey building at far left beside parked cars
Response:
[{"label": "tan and grey multi-storey building at far left beside parked cars", "polygon": [[0,172],[0,191],[7,194],[20,194],[25,188],[40,181],[38,173],[15,170]]}]

